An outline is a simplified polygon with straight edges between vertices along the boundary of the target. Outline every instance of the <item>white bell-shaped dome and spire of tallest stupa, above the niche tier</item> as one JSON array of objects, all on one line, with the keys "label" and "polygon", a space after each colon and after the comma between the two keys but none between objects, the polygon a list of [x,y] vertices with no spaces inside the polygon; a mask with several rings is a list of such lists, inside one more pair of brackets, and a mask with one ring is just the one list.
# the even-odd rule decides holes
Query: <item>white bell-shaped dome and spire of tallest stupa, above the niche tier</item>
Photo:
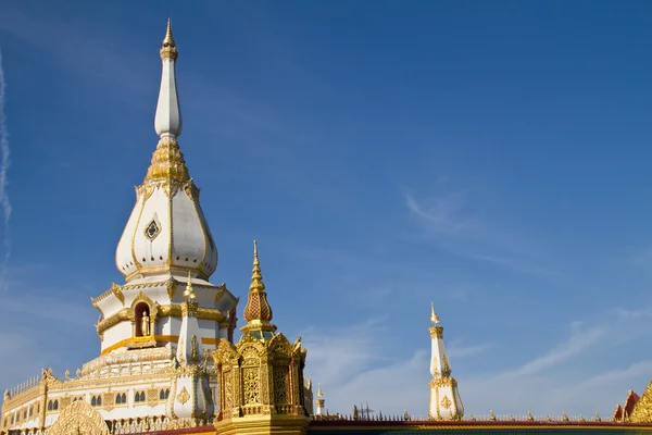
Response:
[{"label": "white bell-shaped dome and spire of tallest stupa, above the niche tier", "polygon": [[178,57],[172,27],[161,47],[163,70],[154,127],[159,145],[145,182],[136,187],[136,206],[117,244],[115,264],[127,283],[152,275],[208,279],[217,268],[217,248],[188,174],[177,138],[181,112],[176,87]]}]

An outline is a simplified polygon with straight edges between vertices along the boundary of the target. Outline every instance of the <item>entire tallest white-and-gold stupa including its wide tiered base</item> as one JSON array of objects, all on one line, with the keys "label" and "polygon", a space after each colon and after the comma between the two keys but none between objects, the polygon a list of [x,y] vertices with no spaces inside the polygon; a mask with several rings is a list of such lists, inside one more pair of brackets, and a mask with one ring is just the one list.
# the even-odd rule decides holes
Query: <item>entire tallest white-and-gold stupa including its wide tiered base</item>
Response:
[{"label": "entire tallest white-and-gold stupa including its wide tiered base", "polygon": [[125,283],[91,299],[101,313],[100,355],[62,378],[43,370],[8,391],[0,433],[125,434],[212,419],[217,378],[202,356],[233,340],[238,299],[209,282],[217,248],[178,144],[178,51],[170,21],[160,55],[159,142],[115,251]]}]

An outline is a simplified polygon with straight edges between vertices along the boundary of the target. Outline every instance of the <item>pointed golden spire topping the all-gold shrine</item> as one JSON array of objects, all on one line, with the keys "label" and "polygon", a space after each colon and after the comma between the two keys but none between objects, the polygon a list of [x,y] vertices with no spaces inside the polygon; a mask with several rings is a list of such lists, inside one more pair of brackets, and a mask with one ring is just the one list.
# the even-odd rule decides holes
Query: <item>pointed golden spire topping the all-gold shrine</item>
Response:
[{"label": "pointed golden spire topping the all-gold shrine", "polygon": [[244,307],[244,320],[247,324],[240,331],[246,334],[251,333],[258,338],[272,338],[276,331],[276,326],[269,323],[272,307],[267,302],[255,240],[253,240],[253,270],[251,271],[251,284],[249,285],[249,295]]}]

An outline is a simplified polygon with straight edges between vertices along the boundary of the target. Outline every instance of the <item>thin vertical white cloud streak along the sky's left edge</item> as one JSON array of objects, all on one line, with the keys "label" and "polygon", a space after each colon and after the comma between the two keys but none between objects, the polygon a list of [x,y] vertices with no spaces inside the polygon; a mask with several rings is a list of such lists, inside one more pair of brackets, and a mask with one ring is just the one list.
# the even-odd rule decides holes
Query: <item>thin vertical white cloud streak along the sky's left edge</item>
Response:
[{"label": "thin vertical white cloud streak along the sky's left edge", "polygon": [[4,112],[4,103],[7,101],[7,84],[4,82],[4,69],[2,66],[2,51],[0,50],[0,206],[2,208],[2,247],[4,253],[2,263],[0,264],[0,291],[5,289],[7,268],[11,257],[11,235],[9,232],[9,221],[11,219],[11,202],[9,201],[9,166],[10,166],[10,148],[9,134],[7,132],[7,115]]}]

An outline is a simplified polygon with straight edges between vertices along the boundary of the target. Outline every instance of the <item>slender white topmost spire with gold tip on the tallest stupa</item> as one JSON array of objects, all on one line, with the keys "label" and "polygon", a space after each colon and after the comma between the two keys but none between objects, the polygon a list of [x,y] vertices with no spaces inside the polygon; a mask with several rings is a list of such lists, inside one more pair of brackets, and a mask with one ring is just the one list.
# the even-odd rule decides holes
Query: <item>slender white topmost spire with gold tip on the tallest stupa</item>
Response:
[{"label": "slender white topmost spire with gold tip on the tallest stupa", "polygon": [[181,110],[176,88],[175,65],[178,51],[176,42],[172,37],[172,23],[167,18],[167,29],[163,46],[161,47],[161,60],[163,72],[161,76],[161,89],[159,90],[159,103],[154,117],[154,129],[159,137],[177,138],[181,134]]}]

